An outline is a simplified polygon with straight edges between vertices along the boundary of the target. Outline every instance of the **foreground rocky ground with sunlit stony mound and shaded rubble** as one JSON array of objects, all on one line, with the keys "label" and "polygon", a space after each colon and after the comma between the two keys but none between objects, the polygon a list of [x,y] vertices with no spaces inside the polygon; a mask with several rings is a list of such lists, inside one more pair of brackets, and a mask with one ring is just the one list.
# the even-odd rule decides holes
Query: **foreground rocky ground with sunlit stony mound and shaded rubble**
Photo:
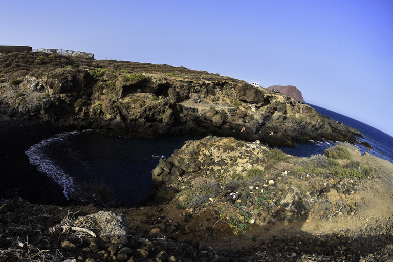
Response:
[{"label": "foreground rocky ground with sunlit stony mound and shaded rubble", "polygon": [[[142,207],[2,199],[0,261],[391,261],[393,165],[342,146],[374,172],[302,174],[288,164],[315,157],[277,166],[260,142],[206,137],[158,160]],[[264,172],[233,177],[243,168]]]}]

